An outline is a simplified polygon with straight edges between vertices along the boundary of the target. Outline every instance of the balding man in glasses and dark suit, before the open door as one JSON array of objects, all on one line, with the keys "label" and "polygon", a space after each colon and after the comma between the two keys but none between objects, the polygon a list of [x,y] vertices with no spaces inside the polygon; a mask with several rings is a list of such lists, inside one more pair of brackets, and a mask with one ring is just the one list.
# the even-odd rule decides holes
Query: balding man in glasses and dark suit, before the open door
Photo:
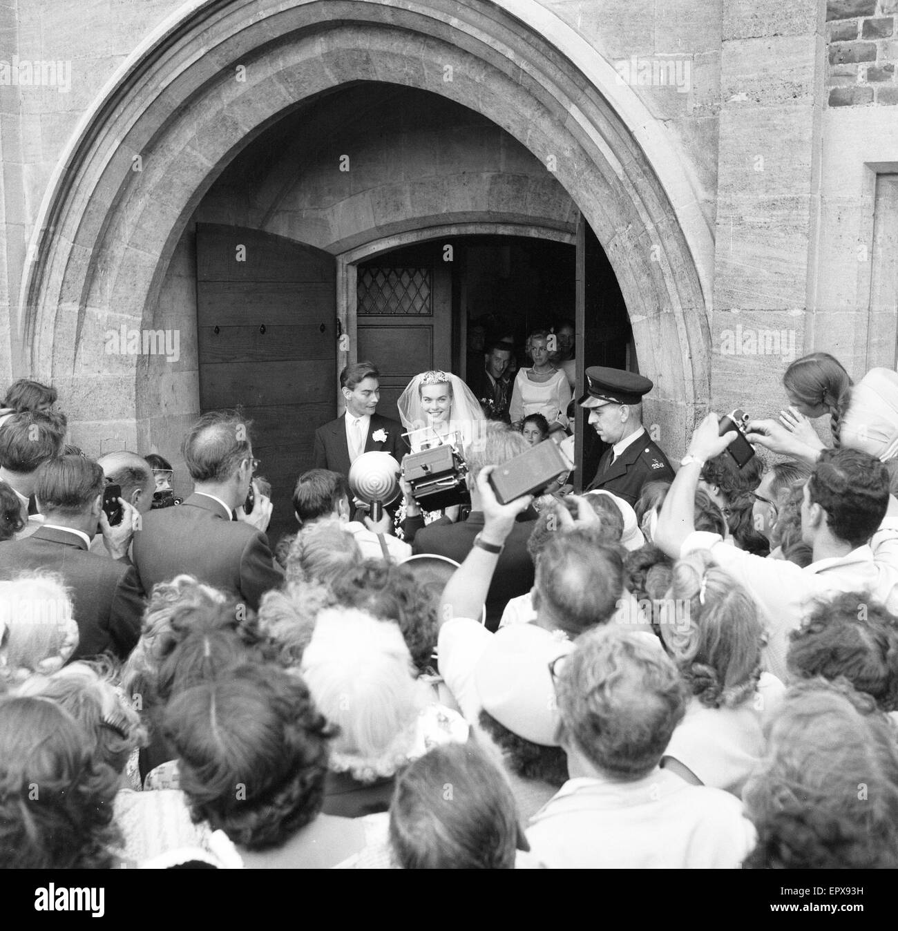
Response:
[{"label": "balding man in glasses and dark suit, before the open door", "polygon": [[184,439],[184,462],[194,493],[176,507],[144,514],[134,533],[134,563],[143,587],[190,573],[222,588],[253,611],[283,574],[265,530],[271,501],[256,493],[252,513],[243,504],[258,460],[252,458],[250,424],[235,412],[203,414]]}]

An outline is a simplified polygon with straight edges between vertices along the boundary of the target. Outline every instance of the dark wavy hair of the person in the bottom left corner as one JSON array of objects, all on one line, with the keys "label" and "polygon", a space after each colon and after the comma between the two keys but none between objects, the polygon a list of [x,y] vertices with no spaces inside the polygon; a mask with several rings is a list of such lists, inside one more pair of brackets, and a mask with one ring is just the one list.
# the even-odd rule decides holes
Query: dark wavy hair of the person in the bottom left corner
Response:
[{"label": "dark wavy hair of the person in the bottom left corner", "polygon": [[0,868],[112,866],[118,775],[55,702],[0,698]]}]

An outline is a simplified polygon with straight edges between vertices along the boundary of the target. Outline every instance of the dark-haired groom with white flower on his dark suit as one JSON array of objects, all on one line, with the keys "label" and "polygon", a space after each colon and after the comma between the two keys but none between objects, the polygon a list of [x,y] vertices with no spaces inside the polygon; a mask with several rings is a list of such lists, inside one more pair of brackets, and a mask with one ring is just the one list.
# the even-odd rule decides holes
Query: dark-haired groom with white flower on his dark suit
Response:
[{"label": "dark-haired groom with white flower on his dark suit", "polygon": [[401,464],[409,452],[402,425],[375,413],[380,399],[380,372],[371,362],[348,365],[340,372],[347,411],[315,431],[315,468],[349,476],[349,466],[362,452],[388,452]]}]

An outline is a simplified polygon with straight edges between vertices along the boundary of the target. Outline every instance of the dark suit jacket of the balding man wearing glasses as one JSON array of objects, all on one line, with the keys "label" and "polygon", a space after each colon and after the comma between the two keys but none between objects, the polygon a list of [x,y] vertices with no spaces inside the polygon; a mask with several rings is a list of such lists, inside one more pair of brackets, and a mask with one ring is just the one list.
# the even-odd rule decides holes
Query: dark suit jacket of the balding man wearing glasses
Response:
[{"label": "dark suit jacket of the balding man wearing glasses", "polygon": [[134,534],[134,564],[148,592],[157,582],[189,573],[236,595],[253,611],[283,581],[265,533],[231,520],[224,506],[204,494],[144,514],[143,529]]}]

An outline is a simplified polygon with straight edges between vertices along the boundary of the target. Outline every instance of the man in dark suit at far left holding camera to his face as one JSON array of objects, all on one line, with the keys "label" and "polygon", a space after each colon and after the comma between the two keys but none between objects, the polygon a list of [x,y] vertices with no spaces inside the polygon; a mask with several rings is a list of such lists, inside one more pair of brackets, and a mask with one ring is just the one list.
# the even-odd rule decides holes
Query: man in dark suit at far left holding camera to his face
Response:
[{"label": "man in dark suit at far left holding camera to his face", "polygon": [[[73,659],[107,652],[125,659],[141,632],[143,588],[127,556],[135,511],[119,499],[124,516],[110,527],[102,510],[105,485],[102,468],[83,456],[51,459],[34,486],[43,525],[0,546],[0,578],[48,570],[71,590],[79,634]],[[98,522],[111,560],[88,552]]]}]

